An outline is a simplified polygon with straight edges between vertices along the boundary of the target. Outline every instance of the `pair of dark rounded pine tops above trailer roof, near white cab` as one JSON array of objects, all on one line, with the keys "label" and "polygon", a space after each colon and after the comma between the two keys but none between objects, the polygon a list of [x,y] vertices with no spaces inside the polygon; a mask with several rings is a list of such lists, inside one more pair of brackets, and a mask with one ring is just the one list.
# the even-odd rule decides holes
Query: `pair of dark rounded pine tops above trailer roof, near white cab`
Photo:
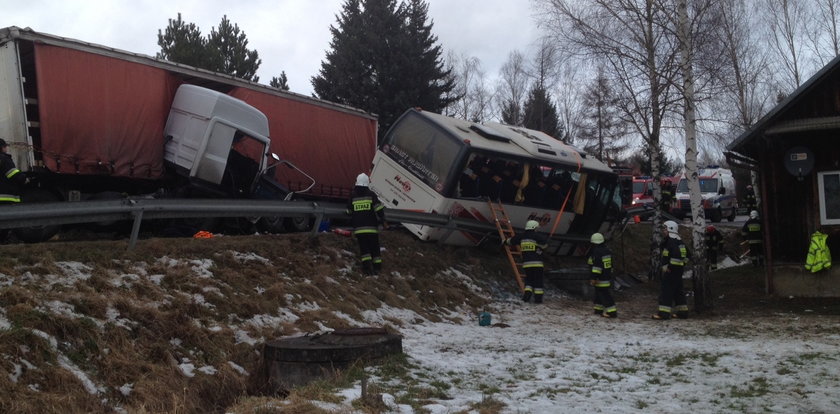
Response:
[{"label": "pair of dark rounded pine tops above trailer roof, near white cab", "polygon": [[194,23],[187,24],[178,13],[176,20],[162,32],[158,30],[158,59],[183,63],[238,78],[259,81],[257,69],[262,61],[256,50],[248,49],[248,39],[237,24],[222,17],[218,30],[211,29],[207,37]]}]

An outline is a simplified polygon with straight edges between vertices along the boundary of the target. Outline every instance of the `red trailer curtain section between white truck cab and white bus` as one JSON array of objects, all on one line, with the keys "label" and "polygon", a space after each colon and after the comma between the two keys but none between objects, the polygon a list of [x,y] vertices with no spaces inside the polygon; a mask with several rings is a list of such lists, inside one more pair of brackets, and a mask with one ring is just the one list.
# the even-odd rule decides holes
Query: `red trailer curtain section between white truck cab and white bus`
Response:
[{"label": "red trailer curtain section between white truck cab and white bus", "polygon": [[[271,151],[315,179],[313,194],[346,197],[348,194],[334,191],[352,188],[356,175],[370,172],[376,151],[376,119],[246,88],[235,88],[230,95],[268,116]],[[279,181],[299,189],[296,181],[300,177],[292,170],[281,168],[278,173],[287,174],[278,177]]]}]

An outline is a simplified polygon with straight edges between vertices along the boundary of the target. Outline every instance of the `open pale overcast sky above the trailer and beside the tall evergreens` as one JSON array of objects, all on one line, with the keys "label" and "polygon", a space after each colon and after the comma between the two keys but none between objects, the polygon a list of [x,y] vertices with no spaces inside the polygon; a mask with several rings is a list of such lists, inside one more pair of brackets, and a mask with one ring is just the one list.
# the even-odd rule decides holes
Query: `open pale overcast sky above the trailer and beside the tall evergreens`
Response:
[{"label": "open pale overcast sky above the trailer and beside the tall evergreens", "polygon": [[[267,84],[285,71],[293,92],[312,93],[344,0],[0,0],[0,27],[98,43],[154,56],[157,32],[180,12],[202,34],[223,15],[239,25],[262,65]],[[527,52],[539,37],[528,0],[429,0],[433,32],[444,51],[475,56],[494,78],[508,53]]]}]

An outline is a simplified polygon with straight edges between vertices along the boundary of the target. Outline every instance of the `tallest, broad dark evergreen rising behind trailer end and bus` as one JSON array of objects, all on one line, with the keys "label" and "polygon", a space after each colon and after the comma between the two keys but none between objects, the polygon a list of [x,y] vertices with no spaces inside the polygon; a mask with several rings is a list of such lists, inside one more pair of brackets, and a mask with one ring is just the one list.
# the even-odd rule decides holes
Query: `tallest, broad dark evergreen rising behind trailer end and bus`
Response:
[{"label": "tallest, broad dark evergreen rising behind trailer end and bus", "polygon": [[453,83],[427,20],[423,0],[346,0],[315,95],[378,114],[380,134],[408,108],[442,111]]}]

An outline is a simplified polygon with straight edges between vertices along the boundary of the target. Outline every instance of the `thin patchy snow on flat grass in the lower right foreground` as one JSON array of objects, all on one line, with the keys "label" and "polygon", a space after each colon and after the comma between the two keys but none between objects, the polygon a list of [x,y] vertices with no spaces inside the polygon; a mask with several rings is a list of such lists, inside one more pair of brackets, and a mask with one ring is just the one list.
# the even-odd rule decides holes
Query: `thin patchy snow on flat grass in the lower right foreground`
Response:
[{"label": "thin patchy snow on flat grass in the lower right foreground", "polygon": [[837,317],[605,319],[569,302],[497,302],[497,326],[465,314],[463,324],[403,327],[403,351],[423,371],[415,376],[450,387],[451,399],[424,408],[468,412],[492,397],[505,413],[840,412]]}]

